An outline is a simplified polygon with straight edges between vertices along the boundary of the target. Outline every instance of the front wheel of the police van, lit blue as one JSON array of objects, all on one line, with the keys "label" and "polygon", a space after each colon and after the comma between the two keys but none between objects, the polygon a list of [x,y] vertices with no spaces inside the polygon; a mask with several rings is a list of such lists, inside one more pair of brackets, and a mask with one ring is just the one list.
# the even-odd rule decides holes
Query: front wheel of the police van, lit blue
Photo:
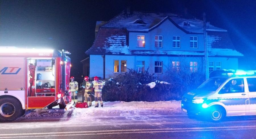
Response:
[{"label": "front wheel of the police van, lit blue", "polygon": [[226,113],[221,107],[212,107],[210,109],[210,120],[213,122],[219,122],[224,119]]}]

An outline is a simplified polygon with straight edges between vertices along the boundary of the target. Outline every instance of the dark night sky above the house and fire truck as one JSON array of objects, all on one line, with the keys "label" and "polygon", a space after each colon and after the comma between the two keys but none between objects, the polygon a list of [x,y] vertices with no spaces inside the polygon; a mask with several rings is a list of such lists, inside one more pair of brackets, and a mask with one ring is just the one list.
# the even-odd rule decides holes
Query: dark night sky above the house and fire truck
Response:
[{"label": "dark night sky above the house and fire truck", "polygon": [[[228,30],[235,48],[245,54],[240,69],[256,70],[256,0],[0,0],[0,46],[65,49],[82,75],[81,60],[95,38],[96,21],[109,21],[131,10],[188,13]],[[251,59],[251,60],[248,60]]]}]

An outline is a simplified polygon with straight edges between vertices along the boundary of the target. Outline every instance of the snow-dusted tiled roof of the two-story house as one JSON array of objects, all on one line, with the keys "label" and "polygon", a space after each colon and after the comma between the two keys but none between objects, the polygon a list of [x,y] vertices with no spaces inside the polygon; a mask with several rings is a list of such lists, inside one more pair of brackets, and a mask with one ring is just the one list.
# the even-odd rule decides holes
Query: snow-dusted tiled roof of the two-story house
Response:
[{"label": "snow-dusted tiled roof of the two-story house", "polygon": [[[130,15],[122,12],[100,27],[93,46],[85,53],[92,55],[204,56],[204,51],[129,50],[129,31],[150,31],[166,20],[171,21],[177,28],[186,33],[200,33],[203,30],[203,21],[182,19],[175,14],[133,12]],[[184,24],[183,22],[186,22],[185,24],[189,24],[189,26],[181,26],[181,24]],[[209,56],[243,56],[243,54],[234,49],[226,30],[211,25],[207,29],[207,47]]]}]

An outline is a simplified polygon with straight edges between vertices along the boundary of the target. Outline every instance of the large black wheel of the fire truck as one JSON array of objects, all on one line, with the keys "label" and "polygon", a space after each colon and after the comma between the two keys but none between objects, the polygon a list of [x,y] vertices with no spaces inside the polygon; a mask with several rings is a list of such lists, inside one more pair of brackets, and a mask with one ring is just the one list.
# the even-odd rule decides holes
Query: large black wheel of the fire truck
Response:
[{"label": "large black wheel of the fire truck", "polygon": [[0,121],[13,121],[21,116],[22,107],[18,100],[14,98],[0,99]]}]

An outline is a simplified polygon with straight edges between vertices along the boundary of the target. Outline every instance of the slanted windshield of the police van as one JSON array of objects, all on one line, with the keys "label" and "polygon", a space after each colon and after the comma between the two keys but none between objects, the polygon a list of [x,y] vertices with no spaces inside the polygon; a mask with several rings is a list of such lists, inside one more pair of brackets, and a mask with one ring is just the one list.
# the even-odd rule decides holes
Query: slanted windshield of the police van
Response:
[{"label": "slanted windshield of the police van", "polygon": [[206,80],[200,85],[197,89],[207,90],[207,91],[216,91],[221,84],[223,84],[227,80],[225,77],[214,77]]}]

